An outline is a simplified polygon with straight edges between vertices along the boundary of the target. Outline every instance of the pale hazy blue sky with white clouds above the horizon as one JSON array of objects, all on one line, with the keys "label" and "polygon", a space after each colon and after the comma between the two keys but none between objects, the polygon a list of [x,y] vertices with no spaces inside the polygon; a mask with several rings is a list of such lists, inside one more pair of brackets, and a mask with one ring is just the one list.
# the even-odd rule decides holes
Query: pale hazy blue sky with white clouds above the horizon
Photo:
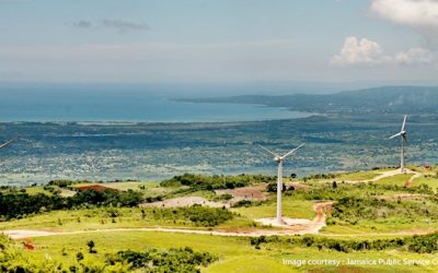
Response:
[{"label": "pale hazy blue sky with white clouds above the horizon", "polygon": [[438,84],[438,0],[0,0],[0,82]]}]

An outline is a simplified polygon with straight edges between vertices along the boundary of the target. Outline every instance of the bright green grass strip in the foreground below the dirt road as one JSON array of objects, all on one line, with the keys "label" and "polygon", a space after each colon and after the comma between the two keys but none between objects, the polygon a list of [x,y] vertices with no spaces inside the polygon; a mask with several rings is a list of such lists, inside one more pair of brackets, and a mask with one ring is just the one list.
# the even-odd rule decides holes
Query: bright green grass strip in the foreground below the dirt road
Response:
[{"label": "bright green grass strip in the foreground below the dirt road", "polygon": [[[87,241],[95,242],[96,254],[87,253]],[[64,264],[74,263],[74,254],[79,251],[85,257],[102,257],[105,253],[113,253],[120,249],[142,250],[146,248],[180,248],[192,247],[197,251],[207,251],[219,257],[219,261],[212,263],[203,272],[436,272],[437,265],[348,265],[350,260],[376,260],[379,259],[403,259],[427,260],[433,262],[438,259],[437,254],[415,254],[404,251],[367,251],[343,253],[318,249],[302,249],[298,247],[267,245],[261,249],[251,246],[247,238],[218,237],[208,235],[168,234],[150,232],[114,232],[114,233],[91,233],[81,235],[64,235],[62,237],[39,237],[34,238],[33,244],[37,250],[28,252],[35,259],[50,257],[54,260],[62,261]],[[307,262],[324,262],[325,260],[339,261],[335,265],[287,265],[284,260]]]}]

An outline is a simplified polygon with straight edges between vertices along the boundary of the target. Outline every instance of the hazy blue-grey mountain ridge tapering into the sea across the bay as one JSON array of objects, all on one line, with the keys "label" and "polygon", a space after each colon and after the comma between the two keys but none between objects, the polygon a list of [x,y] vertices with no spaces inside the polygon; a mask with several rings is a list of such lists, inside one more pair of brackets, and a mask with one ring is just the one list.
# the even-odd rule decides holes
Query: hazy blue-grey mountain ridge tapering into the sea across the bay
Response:
[{"label": "hazy blue-grey mountain ridge tapering into the sea across the bay", "polygon": [[438,86],[383,86],[334,94],[184,98],[191,103],[254,104],[312,112],[438,112]]}]

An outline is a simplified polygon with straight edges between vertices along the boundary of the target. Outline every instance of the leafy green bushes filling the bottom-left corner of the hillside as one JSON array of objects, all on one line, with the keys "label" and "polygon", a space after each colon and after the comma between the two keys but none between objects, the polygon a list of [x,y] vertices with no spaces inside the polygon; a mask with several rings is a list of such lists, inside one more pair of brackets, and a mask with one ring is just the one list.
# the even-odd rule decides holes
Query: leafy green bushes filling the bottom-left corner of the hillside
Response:
[{"label": "leafy green bushes filling the bottom-left corner of the hillside", "polygon": [[[94,249],[93,240],[87,242],[88,253],[81,251],[74,254],[73,263],[54,261],[50,257],[33,259],[20,242],[12,241],[0,235],[0,271],[1,272],[200,272],[200,266],[207,266],[218,260],[209,252],[194,251],[189,247],[145,251],[119,250],[106,253],[100,258]],[[62,250],[62,256],[68,253]]]}]

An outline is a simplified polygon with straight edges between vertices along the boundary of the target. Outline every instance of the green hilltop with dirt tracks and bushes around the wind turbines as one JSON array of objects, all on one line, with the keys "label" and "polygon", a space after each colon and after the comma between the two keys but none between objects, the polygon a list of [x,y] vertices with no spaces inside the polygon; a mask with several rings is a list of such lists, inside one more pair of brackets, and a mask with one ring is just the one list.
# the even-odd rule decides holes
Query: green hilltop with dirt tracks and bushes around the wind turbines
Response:
[{"label": "green hilltop with dirt tracks and bushes around the wind turbines", "polygon": [[[275,215],[272,176],[184,174],[161,182],[3,187],[0,229],[19,242],[0,236],[0,266],[12,272],[433,272],[430,264],[346,261],[436,259],[437,174],[438,166],[408,166],[405,174],[374,168],[285,178],[284,215],[296,224],[284,227],[258,221]],[[8,200],[14,200],[14,210]],[[328,259],[339,268],[290,265],[284,259]]]}]

